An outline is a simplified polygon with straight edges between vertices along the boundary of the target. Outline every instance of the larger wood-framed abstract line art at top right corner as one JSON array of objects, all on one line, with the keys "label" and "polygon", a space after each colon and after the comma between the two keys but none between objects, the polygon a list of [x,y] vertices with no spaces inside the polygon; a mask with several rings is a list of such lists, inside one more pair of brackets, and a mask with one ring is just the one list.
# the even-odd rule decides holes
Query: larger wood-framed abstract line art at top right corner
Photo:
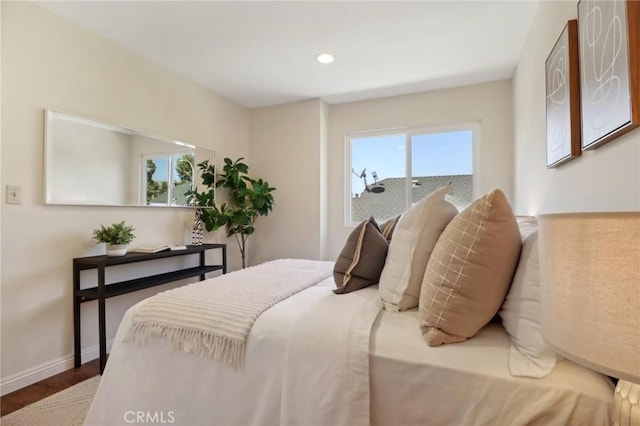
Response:
[{"label": "larger wood-framed abstract line art at top right corner", "polygon": [[640,126],[640,2],[578,3],[582,149]]}]

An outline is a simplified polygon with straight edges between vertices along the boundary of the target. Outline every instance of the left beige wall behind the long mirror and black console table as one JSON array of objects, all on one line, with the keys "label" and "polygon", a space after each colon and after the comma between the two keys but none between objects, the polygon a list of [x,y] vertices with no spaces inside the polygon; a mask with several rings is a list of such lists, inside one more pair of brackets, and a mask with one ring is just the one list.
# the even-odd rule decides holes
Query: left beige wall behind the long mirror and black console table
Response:
[{"label": "left beige wall behind the long mirror and black console table", "polygon": [[[43,205],[45,108],[214,149],[218,163],[249,151],[245,108],[38,6],[2,2],[3,195],[5,185],[22,188],[22,204],[3,197],[1,210],[3,393],[71,366],[71,259],[104,253],[91,240],[94,228],[125,219],[136,227],[134,244],[178,244],[188,242],[193,221],[180,208]],[[229,255],[237,268],[237,251]],[[126,308],[166,288],[110,299],[109,338]],[[83,304],[82,315],[89,350],[97,344],[95,303]]]}]

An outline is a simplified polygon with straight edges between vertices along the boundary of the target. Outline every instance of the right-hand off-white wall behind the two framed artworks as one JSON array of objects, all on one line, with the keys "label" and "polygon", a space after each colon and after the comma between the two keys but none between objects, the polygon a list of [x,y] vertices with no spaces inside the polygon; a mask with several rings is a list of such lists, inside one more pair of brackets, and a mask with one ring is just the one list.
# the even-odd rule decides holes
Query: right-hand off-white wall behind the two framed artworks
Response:
[{"label": "right-hand off-white wall behind the two framed artworks", "polygon": [[555,169],[546,168],[544,63],[575,1],[540,2],[515,77],[515,210],[536,215],[640,209],[640,129]]}]

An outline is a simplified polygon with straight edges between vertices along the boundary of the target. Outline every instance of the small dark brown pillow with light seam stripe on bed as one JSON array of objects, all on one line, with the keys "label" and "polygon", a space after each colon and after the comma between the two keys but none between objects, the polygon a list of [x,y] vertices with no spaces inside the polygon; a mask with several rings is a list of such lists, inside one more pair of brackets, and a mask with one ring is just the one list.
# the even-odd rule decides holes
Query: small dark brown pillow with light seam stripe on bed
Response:
[{"label": "small dark brown pillow with light seam stripe on bed", "polygon": [[389,242],[370,217],[347,238],[333,267],[336,294],[349,293],[377,284],[387,257]]}]

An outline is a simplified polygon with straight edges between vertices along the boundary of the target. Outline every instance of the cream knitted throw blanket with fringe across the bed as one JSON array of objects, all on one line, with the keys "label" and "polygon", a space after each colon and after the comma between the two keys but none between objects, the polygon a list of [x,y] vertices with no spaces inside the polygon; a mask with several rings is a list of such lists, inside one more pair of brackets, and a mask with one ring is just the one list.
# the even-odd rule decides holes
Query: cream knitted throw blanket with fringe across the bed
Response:
[{"label": "cream knitted throw blanket with fringe across the bed", "polygon": [[281,259],[165,291],[144,302],[125,340],[161,338],[176,352],[242,368],[258,316],[332,273],[333,262]]}]

